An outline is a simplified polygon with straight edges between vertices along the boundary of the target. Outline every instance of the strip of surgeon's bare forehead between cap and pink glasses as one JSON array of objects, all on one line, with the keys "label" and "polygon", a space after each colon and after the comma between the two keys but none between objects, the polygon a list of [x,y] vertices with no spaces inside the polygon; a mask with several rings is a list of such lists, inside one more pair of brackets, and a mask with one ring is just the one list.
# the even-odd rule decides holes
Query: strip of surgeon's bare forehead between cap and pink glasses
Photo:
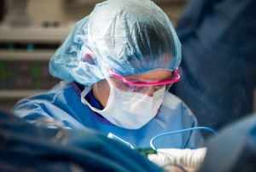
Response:
[{"label": "strip of surgeon's bare forehead between cap and pink glasses", "polygon": [[137,81],[160,81],[172,76],[172,72],[167,70],[157,70],[139,75],[129,76],[127,78]]}]

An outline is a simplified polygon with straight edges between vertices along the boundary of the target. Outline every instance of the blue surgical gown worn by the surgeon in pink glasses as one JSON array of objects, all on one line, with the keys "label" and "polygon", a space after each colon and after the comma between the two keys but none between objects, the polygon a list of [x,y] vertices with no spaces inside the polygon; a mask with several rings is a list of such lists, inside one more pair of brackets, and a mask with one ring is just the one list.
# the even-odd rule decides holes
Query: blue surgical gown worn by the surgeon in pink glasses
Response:
[{"label": "blue surgical gown worn by the surgeon in pink glasses", "polygon": [[[123,129],[99,117],[84,105],[80,100],[81,91],[76,83],[61,82],[48,92],[18,101],[12,112],[29,122],[48,117],[61,121],[70,129],[96,129],[103,135],[114,135],[114,138],[135,148],[148,148],[150,140],[155,135],[197,125],[195,116],[189,108],[176,96],[166,93],[155,118],[141,129]],[[194,130],[160,137],[154,141],[154,146],[195,148],[204,146],[204,140],[200,132]]]}]

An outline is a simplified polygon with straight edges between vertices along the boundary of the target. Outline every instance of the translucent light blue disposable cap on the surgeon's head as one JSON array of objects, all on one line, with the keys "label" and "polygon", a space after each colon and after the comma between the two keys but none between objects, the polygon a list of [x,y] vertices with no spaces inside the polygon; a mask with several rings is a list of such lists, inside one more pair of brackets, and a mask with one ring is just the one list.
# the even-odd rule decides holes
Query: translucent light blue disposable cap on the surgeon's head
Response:
[{"label": "translucent light blue disposable cap on the surgeon's head", "polygon": [[181,45],[167,15],[149,0],[108,0],[73,27],[49,61],[49,72],[84,85],[110,76],[173,71]]}]

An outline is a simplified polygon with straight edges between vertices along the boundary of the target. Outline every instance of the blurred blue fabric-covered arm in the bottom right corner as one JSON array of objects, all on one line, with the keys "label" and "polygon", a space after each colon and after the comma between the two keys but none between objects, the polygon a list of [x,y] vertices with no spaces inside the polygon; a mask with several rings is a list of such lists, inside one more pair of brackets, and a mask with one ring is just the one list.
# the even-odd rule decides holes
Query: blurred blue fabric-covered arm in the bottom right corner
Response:
[{"label": "blurred blue fabric-covered arm in the bottom right corner", "polygon": [[201,172],[254,172],[256,169],[256,113],[225,126],[207,140]]}]

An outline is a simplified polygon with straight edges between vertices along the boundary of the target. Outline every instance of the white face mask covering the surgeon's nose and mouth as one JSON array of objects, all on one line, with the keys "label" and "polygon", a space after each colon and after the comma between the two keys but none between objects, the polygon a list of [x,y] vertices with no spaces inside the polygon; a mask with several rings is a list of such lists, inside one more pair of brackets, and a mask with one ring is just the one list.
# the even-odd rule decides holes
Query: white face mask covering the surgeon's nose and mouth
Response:
[{"label": "white face mask covering the surgeon's nose and mouth", "polygon": [[137,92],[128,92],[110,86],[107,106],[98,110],[84,98],[91,89],[85,88],[81,93],[81,101],[94,112],[101,114],[111,123],[125,129],[140,129],[157,114],[164,100],[166,87],[154,92],[154,96]]}]

